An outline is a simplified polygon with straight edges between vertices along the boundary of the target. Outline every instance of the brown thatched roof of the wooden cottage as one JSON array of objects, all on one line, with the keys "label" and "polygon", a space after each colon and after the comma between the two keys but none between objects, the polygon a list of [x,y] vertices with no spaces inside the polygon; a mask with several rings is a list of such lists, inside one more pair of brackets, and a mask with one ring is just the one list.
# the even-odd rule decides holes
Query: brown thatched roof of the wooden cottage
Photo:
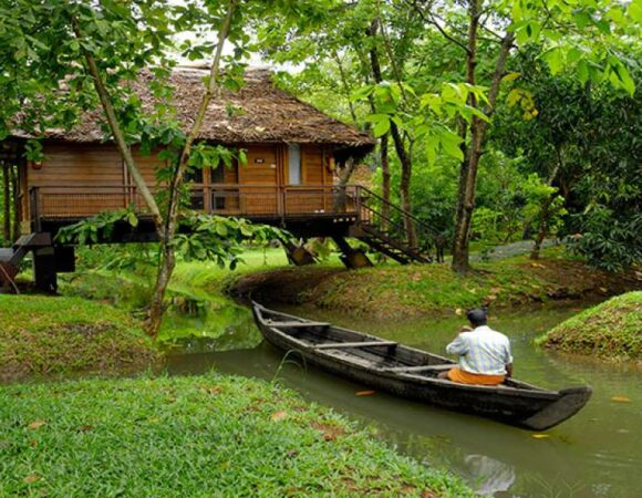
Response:
[{"label": "brown thatched roof of the wooden cottage", "polygon": [[[174,86],[174,105],[184,129],[188,129],[204,93],[203,76],[195,68],[178,68],[169,79]],[[153,74],[145,71],[134,84],[144,106],[153,106],[148,82]],[[246,85],[238,92],[225,91],[209,104],[199,138],[222,144],[298,143],[331,145],[344,155],[362,156],[374,146],[374,139],[353,126],[341,123],[288,92],[277,89],[268,70],[248,70]],[[237,112],[229,113],[230,108]],[[86,113],[71,131],[49,129],[45,138],[70,142],[103,142],[102,110]],[[28,137],[25,132],[15,136]]]}]

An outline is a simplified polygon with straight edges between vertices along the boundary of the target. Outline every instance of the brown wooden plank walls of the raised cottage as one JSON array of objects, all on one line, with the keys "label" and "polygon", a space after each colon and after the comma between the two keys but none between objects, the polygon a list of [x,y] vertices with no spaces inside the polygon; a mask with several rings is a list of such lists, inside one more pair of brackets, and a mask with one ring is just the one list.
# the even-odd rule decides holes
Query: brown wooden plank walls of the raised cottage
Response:
[{"label": "brown wooden plank walls of the raised cottage", "polygon": [[[332,184],[330,151],[301,146],[300,186],[288,186],[288,146],[242,144],[247,164],[220,170],[204,169],[194,184],[195,207],[216,214],[278,216],[318,214],[332,207],[332,195],[319,187]],[[48,142],[42,164],[24,168],[25,187],[41,187],[41,216],[77,218],[134,205],[145,210],[116,147],[110,144]],[[161,166],[156,154],[144,156],[134,147],[134,159],[149,187]],[[221,187],[217,185],[224,184]],[[317,188],[314,188],[317,187]],[[25,221],[31,217],[25,212]]]}]

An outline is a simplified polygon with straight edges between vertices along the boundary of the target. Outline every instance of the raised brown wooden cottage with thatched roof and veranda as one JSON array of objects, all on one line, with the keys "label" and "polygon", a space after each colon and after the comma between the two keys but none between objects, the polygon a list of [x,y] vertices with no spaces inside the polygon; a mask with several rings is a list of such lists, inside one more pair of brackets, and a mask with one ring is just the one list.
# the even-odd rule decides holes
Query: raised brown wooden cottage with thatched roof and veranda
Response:
[{"label": "raised brown wooden cottage with thatched roof and veranda", "polygon": [[[201,70],[184,68],[170,77],[177,117],[186,127],[199,105],[204,75]],[[136,83],[143,105],[149,107],[151,77],[145,72]],[[24,141],[33,136],[28,129],[15,131],[2,144],[4,155],[13,155],[19,164],[22,237],[11,249],[0,250],[0,280],[33,250],[37,283],[51,289],[56,271],[73,270],[73,248],[54,240],[61,227],[127,206],[144,219],[144,205],[118,151],[105,139],[102,110],[85,114],[71,131],[48,129],[40,135],[44,159],[39,163],[24,159]],[[373,149],[374,139],[277,89],[269,71],[248,71],[240,91],[214,101],[198,138],[242,148],[247,162],[231,168],[206,167],[190,178],[195,209],[282,226],[300,237],[335,237],[346,251],[343,237],[366,241],[374,237],[373,247],[403,262],[426,259],[403,240],[397,240],[402,250],[390,246],[390,229],[383,226],[390,228],[394,220],[381,218],[382,200],[374,194],[359,186],[335,185],[336,165],[363,158]],[[155,185],[157,155],[144,155],[137,146],[132,152],[148,185]],[[151,240],[153,236],[151,222],[142,222],[136,232],[115,230],[105,242]]]}]

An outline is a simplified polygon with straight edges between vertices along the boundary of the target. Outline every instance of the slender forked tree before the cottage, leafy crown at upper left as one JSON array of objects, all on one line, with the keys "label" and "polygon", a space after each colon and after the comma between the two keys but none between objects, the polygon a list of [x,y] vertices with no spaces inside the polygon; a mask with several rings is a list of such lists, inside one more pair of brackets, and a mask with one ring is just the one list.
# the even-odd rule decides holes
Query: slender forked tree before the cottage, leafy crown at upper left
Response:
[{"label": "slender forked tree before the cottage, leafy crown at upper left", "polygon": [[[237,9],[237,0],[187,2],[158,2],[137,0],[127,3],[101,2],[70,3],[63,0],[44,4],[21,0],[11,6],[10,15],[1,18],[8,43],[2,59],[15,61],[12,80],[23,92],[11,102],[40,102],[49,87],[50,114],[66,117],[73,126],[74,112],[95,105],[95,95],[102,106],[108,136],[116,143],[127,166],[138,194],[143,197],[154,220],[161,243],[158,273],[153,300],[148,310],[147,330],[156,335],[164,311],[163,298],[175,266],[175,245],[182,191],[186,172],[203,164],[216,166],[229,157],[229,151],[196,143],[208,103],[222,84],[220,65],[226,40],[235,46],[235,55],[226,58],[227,63],[238,65],[247,53],[249,37],[242,29],[241,17],[249,15],[265,7],[255,2],[242,11]],[[8,6],[1,6],[8,7]],[[253,10],[252,10],[253,9]],[[53,21],[53,22],[51,22]],[[235,22],[236,21],[236,22]],[[209,76],[204,87],[201,105],[189,131],[182,129],[182,123],[173,118],[170,95],[164,77],[175,62],[173,35],[178,31],[197,31],[197,35],[218,31],[216,43],[207,37],[188,40],[183,44],[184,54],[200,58],[213,53]],[[38,68],[37,68],[38,66]],[[153,86],[159,104],[153,115],[146,115],[127,82],[137,77],[142,70],[154,72],[158,82]],[[231,65],[226,80],[238,80],[239,71]],[[9,81],[10,79],[7,79]],[[30,82],[37,82],[31,89]],[[65,85],[60,91],[61,84]],[[237,83],[235,83],[237,84]],[[90,85],[95,89],[92,94]],[[44,92],[43,92],[44,91]],[[17,105],[13,106],[15,111]],[[34,121],[42,118],[37,106],[30,106]],[[4,115],[4,134],[10,128],[10,113]],[[24,121],[23,121],[24,123]],[[40,122],[39,122],[40,123]],[[35,127],[44,129],[46,126]],[[162,145],[163,159],[168,167],[161,172],[162,195],[155,197],[145,184],[131,153],[131,144],[142,142],[151,148]],[[206,224],[200,221],[199,226]]]}]

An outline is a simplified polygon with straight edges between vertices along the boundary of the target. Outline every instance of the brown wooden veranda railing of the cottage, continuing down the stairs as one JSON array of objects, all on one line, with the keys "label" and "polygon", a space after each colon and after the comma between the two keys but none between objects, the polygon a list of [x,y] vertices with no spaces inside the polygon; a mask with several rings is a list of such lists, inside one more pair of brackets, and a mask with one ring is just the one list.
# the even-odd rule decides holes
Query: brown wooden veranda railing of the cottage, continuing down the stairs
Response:
[{"label": "brown wooden veranda railing of the cottage, continuing down the stairs", "polygon": [[[433,252],[436,234],[413,215],[360,185],[191,185],[193,209],[213,215],[238,216],[263,222],[293,218],[340,217],[359,225],[364,239],[375,239],[391,251],[411,258]],[[32,187],[30,214],[35,231],[43,220],[77,220],[107,210],[131,207],[144,215],[146,206],[135,187],[66,186]],[[407,241],[404,218],[414,222],[418,246]],[[373,242],[374,245],[374,242]]]}]

